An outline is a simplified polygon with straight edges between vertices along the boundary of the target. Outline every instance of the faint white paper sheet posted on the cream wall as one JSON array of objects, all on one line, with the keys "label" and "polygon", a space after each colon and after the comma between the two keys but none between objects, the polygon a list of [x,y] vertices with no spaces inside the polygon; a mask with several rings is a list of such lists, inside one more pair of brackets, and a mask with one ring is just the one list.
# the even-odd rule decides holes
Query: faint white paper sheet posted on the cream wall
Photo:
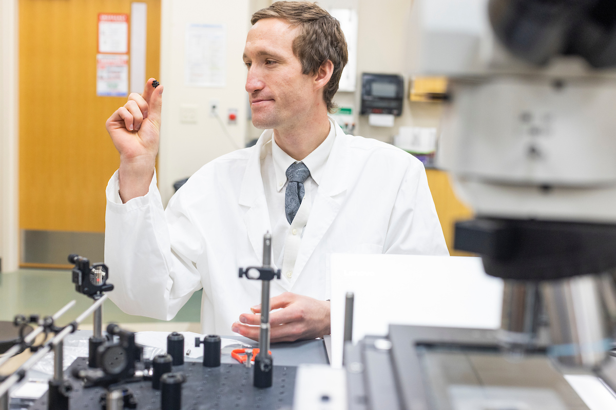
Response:
[{"label": "faint white paper sheet posted on the cream wall", "polygon": [[224,25],[190,24],[184,49],[188,87],[225,87],[227,44]]}]

